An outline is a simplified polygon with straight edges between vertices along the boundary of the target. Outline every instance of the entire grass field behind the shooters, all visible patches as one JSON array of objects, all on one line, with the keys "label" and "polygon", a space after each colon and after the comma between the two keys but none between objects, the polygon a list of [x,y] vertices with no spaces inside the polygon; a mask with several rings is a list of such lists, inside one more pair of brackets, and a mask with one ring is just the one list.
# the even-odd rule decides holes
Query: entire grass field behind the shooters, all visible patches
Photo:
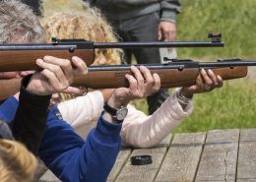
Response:
[{"label": "entire grass field behind the shooters, all visible patches", "polygon": [[[44,0],[46,16],[55,11],[82,11],[79,0]],[[255,0],[180,0],[179,40],[207,40],[208,31],[222,31],[224,48],[181,48],[179,58],[256,58]],[[53,7],[55,9],[53,9]],[[224,128],[256,128],[256,82],[254,77],[224,83],[223,89],[194,97],[195,109],[175,132],[198,132]],[[147,113],[144,100],[134,102]]]}]

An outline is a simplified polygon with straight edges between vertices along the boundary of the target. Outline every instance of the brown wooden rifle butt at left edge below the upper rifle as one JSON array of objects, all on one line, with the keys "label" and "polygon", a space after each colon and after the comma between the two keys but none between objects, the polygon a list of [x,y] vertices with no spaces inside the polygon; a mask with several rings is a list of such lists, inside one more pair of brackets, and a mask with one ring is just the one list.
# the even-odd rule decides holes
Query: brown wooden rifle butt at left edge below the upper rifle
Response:
[{"label": "brown wooden rifle butt at left edge below the upper rifle", "polygon": [[20,91],[21,79],[0,80],[0,101]]}]

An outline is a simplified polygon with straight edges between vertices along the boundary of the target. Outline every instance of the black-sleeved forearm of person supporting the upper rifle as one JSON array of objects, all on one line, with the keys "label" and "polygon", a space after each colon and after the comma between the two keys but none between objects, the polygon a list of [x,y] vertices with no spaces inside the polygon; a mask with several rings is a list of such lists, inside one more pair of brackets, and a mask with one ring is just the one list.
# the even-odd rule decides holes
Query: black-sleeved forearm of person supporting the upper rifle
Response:
[{"label": "black-sleeved forearm of person supporting the upper rifle", "polygon": [[46,127],[50,95],[36,95],[27,91],[30,79],[26,77],[23,80],[19,106],[11,126],[15,139],[37,154]]}]

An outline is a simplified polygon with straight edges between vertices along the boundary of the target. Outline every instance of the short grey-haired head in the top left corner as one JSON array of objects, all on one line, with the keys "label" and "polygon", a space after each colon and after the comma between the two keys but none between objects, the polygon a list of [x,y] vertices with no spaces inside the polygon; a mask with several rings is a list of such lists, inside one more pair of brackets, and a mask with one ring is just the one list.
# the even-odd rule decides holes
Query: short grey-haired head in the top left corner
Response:
[{"label": "short grey-haired head in the top left corner", "polygon": [[0,1],[0,43],[42,42],[43,34],[28,5],[18,0]]}]

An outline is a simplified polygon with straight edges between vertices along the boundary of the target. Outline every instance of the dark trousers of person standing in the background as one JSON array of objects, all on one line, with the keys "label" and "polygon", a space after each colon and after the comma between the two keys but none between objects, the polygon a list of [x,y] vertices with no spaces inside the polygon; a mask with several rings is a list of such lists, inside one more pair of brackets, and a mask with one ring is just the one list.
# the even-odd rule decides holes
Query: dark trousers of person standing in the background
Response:
[{"label": "dark trousers of person standing in the background", "polygon": [[[158,41],[159,20],[160,12],[155,12],[132,19],[110,21],[110,23],[120,36],[120,41]],[[124,60],[126,63],[131,64],[132,54],[139,64],[160,63],[159,48],[125,49]],[[154,113],[168,95],[167,90],[160,90],[149,96],[147,98],[149,113]]]}]

